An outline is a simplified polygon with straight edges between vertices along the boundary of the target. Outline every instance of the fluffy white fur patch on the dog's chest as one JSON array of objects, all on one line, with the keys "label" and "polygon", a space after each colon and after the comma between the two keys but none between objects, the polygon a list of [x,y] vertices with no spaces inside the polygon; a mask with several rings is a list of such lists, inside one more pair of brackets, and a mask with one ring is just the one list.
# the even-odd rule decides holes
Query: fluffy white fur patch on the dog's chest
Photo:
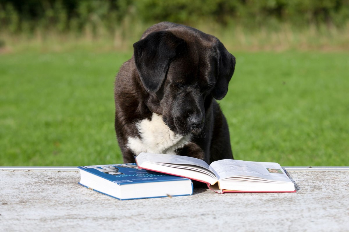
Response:
[{"label": "fluffy white fur patch on the dog's chest", "polygon": [[141,152],[155,154],[176,154],[176,149],[190,142],[191,135],[177,135],[162,121],[162,116],[153,113],[151,120],[136,122],[141,136],[128,137],[127,147],[136,155]]}]

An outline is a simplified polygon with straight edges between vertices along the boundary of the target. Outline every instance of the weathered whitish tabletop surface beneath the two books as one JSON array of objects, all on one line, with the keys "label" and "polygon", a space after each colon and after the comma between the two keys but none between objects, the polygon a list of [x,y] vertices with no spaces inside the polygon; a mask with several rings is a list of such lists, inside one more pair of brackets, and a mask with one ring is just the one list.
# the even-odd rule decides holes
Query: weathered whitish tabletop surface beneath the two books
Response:
[{"label": "weathered whitish tabletop surface beneath the two books", "polygon": [[289,171],[297,193],[119,201],[78,171],[0,171],[0,231],[349,231],[349,171]]}]

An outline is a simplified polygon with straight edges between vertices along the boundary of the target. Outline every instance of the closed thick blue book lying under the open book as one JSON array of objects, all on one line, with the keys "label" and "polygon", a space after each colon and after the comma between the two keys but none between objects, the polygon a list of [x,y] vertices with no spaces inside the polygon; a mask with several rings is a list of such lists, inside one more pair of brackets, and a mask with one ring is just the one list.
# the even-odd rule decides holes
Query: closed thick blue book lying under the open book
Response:
[{"label": "closed thick blue book lying under the open book", "polygon": [[[79,184],[120,200],[191,195],[193,193],[190,179],[141,169],[136,163],[80,166],[78,168],[93,174],[86,176],[80,171]],[[128,192],[125,192],[126,190],[123,189],[126,188],[122,186],[131,184],[134,185],[134,190],[129,191],[127,188]],[[117,187],[116,190],[111,191],[109,189],[113,188],[112,185],[118,185],[120,188]]]}]

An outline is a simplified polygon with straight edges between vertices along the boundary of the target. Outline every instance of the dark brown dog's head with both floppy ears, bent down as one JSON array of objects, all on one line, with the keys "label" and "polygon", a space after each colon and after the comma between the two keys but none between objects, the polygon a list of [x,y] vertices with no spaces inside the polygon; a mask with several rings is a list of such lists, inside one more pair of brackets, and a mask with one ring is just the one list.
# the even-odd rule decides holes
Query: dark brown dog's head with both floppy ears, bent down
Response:
[{"label": "dark brown dog's head with both floppy ears, bent down", "polygon": [[147,33],[133,47],[150,110],[176,134],[199,134],[212,99],[227,94],[235,57],[216,37],[182,25]]}]

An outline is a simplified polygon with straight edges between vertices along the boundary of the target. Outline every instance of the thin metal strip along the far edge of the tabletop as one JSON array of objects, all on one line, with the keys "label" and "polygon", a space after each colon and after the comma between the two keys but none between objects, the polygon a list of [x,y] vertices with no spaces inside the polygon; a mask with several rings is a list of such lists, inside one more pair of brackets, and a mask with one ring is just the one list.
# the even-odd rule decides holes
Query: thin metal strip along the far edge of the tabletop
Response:
[{"label": "thin metal strip along the far edge of the tabletop", "polygon": [[[349,171],[348,166],[337,167],[282,167],[286,171]],[[0,171],[79,171],[77,167],[1,167]]]}]

